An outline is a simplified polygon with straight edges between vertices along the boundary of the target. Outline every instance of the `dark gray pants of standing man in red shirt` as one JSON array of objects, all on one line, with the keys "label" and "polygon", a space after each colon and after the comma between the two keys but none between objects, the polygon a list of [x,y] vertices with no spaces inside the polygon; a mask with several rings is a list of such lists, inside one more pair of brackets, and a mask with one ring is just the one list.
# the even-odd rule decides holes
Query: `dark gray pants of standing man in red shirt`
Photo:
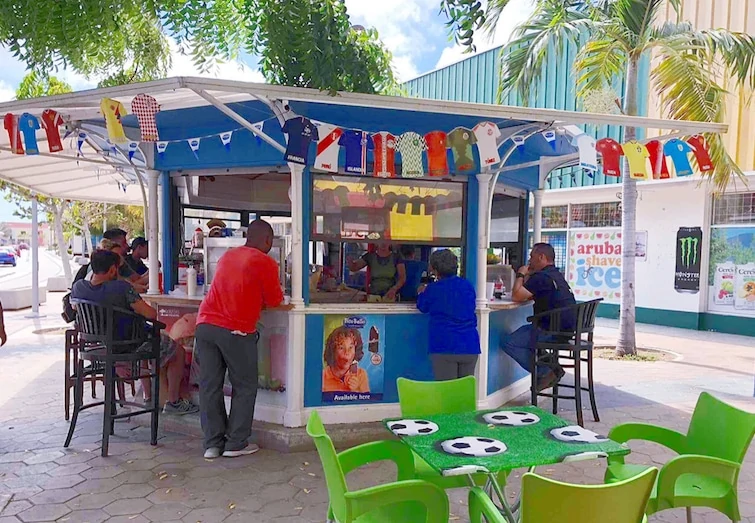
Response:
[{"label": "dark gray pants of standing man in red shirt", "polygon": [[[257,400],[257,333],[233,334],[200,323],[195,332],[199,356],[199,406],[204,448],[241,450],[249,445]],[[223,400],[225,372],[231,380],[231,412]]]}]

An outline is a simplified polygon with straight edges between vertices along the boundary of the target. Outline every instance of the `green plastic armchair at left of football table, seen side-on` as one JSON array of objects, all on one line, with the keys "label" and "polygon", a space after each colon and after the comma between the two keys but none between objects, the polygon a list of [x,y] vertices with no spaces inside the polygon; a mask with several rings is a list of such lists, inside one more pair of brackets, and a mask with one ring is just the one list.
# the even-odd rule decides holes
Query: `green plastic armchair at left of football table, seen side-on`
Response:
[{"label": "green plastic armchair at left of football table, seen side-on", "polygon": [[[338,523],[442,523],[448,522],[448,496],[437,486],[414,476],[412,456],[399,441],[375,441],[336,454],[320,415],[312,412],[307,434],[320,455],[330,508],[328,521]],[[346,474],[376,461],[390,460],[398,468],[398,481],[350,491]]]}]

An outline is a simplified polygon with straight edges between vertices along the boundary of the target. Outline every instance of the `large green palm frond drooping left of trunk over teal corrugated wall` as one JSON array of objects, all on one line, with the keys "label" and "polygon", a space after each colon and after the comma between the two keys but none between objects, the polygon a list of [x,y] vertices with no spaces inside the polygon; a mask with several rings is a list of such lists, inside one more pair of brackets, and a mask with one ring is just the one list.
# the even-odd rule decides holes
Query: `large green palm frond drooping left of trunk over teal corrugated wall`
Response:
[{"label": "large green palm frond drooping left of trunk over teal corrugated wall", "polygon": [[516,90],[521,103],[527,105],[530,89],[538,84],[549,53],[560,55],[566,43],[578,43],[581,34],[594,30],[596,21],[572,4],[545,0],[517,29],[514,40],[501,52],[499,101],[505,93]]}]

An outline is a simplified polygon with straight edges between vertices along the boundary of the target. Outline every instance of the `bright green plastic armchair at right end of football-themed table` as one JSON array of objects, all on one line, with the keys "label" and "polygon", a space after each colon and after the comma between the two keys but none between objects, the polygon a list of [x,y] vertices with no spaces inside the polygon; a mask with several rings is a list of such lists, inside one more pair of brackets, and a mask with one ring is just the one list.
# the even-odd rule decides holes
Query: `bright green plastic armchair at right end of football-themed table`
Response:
[{"label": "bright green plastic armchair at right end of football-themed table", "polygon": [[[655,425],[624,423],[611,429],[608,437],[619,443],[652,441],[679,454],[661,468],[648,514],[686,507],[690,522],[692,507],[708,507],[739,521],[737,480],[753,434],[755,414],[703,392],[686,435]],[[644,468],[625,464],[623,457],[609,458],[608,462],[606,482],[622,480]]]}]

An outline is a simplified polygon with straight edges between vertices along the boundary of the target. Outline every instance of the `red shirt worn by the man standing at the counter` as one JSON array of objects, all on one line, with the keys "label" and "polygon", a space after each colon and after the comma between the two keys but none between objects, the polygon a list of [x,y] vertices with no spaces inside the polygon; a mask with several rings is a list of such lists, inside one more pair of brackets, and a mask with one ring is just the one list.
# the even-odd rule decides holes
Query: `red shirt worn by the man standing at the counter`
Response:
[{"label": "red shirt worn by the man standing at the counter", "polygon": [[210,292],[199,306],[197,325],[256,332],[262,308],[282,302],[275,260],[253,247],[235,247],[218,261]]}]

